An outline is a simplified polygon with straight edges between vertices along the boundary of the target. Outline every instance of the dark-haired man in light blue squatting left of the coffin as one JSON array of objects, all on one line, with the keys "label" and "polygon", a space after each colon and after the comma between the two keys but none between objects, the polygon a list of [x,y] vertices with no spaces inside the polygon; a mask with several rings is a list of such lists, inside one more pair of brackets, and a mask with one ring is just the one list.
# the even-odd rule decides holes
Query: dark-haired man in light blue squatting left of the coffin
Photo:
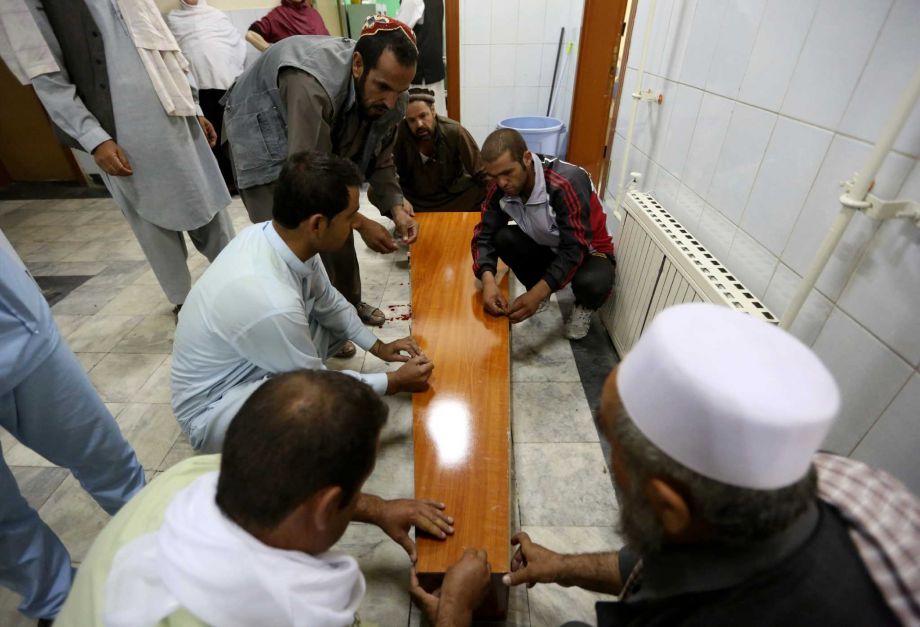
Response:
[{"label": "dark-haired man in light blue squatting left of the coffin", "polygon": [[241,232],[192,287],[176,327],[172,407],[192,446],[220,451],[236,412],[267,377],[322,369],[347,340],[388,373],[346,374],[378,394],[424,389],[433,365],[411,337],[384,344],[332,286],[319,253],[348,239],[361,176],[343,157],[291,156],[278,177],[270,222]]}]

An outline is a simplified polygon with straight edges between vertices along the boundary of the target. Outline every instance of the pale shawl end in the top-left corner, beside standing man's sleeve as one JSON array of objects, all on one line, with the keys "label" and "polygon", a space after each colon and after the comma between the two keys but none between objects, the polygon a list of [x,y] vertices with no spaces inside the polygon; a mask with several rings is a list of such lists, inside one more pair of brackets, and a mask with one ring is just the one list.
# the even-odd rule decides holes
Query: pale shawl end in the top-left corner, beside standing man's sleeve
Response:
[{"label": "pale shawl end in the top-left corner, beside standing man's sleeve", "polygon": [[0,2],[0,57],[23,85],[61,70],[25,0]]}]

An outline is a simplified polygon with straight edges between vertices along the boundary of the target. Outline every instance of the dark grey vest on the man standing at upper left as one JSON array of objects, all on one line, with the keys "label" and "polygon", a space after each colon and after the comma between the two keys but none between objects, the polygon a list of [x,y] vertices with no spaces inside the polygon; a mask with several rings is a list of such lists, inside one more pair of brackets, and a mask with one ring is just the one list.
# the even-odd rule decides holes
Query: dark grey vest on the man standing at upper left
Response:
[{"label": "dark grey vest on the man standing at upper left", "polygon": [[[83,0],[45,0],[45,15],[61,45],[64,67],[77,97],[98,120],[106,133],[116,138],[115,113],[109,91],[102,35]],[[71,148],[83,150],[76,139],[54,127],[58,138]]]}]

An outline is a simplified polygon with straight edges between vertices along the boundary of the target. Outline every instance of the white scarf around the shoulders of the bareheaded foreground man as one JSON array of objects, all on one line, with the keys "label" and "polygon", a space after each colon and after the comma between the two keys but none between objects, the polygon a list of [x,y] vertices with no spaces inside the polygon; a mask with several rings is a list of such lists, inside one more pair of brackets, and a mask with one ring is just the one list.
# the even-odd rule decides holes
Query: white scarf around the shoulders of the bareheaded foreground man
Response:
[{"label": "white scarf around the shoulders of the bareheaded foreground man", "polygon": [[209,625],[351,625],[365,583],[354,558],[264,545],[215,502],[218,473],[179,492],[159,531],[115,556],[107,627],[155,625],[184,608]]}]

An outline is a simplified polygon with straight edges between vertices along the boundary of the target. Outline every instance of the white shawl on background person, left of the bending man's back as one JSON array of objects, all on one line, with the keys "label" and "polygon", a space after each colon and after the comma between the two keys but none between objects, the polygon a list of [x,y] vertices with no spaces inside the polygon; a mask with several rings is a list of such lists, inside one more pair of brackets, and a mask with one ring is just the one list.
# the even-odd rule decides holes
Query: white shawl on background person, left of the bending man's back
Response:
[{"label": "white shawl on background person, left of the bending man's back", "polygon": [[208,6],[207,0],[197,5],[181,0],[166,23],[192,64],[199,89],[228,89],[243,73],[246,40],[227,14]]}]

